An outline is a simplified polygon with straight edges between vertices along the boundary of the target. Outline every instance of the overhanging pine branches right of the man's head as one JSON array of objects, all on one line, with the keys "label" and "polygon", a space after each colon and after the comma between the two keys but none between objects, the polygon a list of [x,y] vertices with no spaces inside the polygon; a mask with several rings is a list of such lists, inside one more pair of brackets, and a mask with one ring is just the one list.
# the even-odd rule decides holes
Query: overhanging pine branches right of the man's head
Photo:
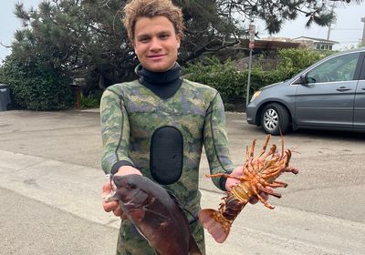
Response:
[{"label": "overhanging pine branches right of the man's head", "polygon": [[[288,20],[306,15],[306,26],[328,26],[335,14],[331,6],[347,5],[350,0],[174,0],[183,7],[186,40],[183,42],[181,63],[189,62],[204,53],[216,53],[236,46],[240,38],[248,36],[247,25],[253,19],[266,23],[270,34],[280,31]],[[360,4],[362,1],[352,1]]]}]

